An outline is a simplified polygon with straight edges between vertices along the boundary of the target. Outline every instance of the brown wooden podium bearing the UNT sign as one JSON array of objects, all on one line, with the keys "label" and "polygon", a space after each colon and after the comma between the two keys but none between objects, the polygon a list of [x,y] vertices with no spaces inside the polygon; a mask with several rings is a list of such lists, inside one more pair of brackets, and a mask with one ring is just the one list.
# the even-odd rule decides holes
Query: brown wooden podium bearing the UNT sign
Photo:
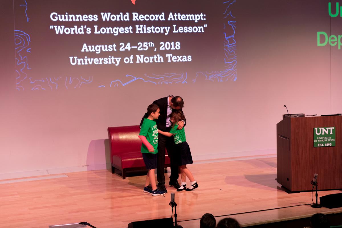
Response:
[{"label": "brown wooden podium bearing the UNT sign", "polygon": [[[335,127],[335,146],[314,147],[314,128]],[[277,123],[277,182],[291,192],[342,189],[342,116],[288,117]]]}]

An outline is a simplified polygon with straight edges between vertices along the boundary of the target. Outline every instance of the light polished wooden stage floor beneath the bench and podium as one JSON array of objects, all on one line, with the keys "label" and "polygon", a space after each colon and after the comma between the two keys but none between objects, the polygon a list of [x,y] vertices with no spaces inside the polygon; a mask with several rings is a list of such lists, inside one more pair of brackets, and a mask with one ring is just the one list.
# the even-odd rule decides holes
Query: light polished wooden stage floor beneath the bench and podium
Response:
[{"label": "light polished wooden stage floor beneath the bench and podium", "polygon": [[[145,176],[123,180],[108,170],[11,179],[13,183],[1,180],[0,226],[43,228],[87,221],[97,228],[124,228],[132,221],[170,217],[171,192],[175,192],[177,220],[184,228],[199,227],[205,213],[220,216],[217,222],[234,217],[248,226],[342,211],[306,205],[312,203],[311,192],[286,193],[275,180],[275,157],[188,167],[198,189],[176,192],[168,187],[166,195],[157,197],[143,192]],[[318,195],[332,193],[341,191],[320,191]]]}]

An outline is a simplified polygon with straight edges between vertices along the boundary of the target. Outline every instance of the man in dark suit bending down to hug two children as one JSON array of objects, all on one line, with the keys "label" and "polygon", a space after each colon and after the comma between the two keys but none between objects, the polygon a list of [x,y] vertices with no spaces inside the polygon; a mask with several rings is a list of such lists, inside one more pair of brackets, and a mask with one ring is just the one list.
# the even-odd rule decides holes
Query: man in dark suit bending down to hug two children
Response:
[{"label": "man in dark suit bending down to hug two children", "polygon": [[[170,114],[172,109],[182,109],[184,106],[183,98],[180,96],[167,96],[155,100],[153,104],[159,106],[160,116],[156,119],[157,127],[161,131],[169,132],[171,130]],[[140,126],[142,125],[144,118],[147,118],[147,112],[141,120]],[[180,121],[178,123],[178,129],[182,129],[186,124],[185,121]],[[164,165],[165,165],[165,148],[168,151],[168,155],[171,161],[171,175],[169,185],[175,188],[179,188],[180,185],[177,181],[178,175],[178,164],[175,156],[175,144],[173,137],[167,137],[162,134],[158,134],[158,160],[157,160],[157,180],[158,187],[162,191],[166,191],[165,188],[165,175],[164,175]]]}]

